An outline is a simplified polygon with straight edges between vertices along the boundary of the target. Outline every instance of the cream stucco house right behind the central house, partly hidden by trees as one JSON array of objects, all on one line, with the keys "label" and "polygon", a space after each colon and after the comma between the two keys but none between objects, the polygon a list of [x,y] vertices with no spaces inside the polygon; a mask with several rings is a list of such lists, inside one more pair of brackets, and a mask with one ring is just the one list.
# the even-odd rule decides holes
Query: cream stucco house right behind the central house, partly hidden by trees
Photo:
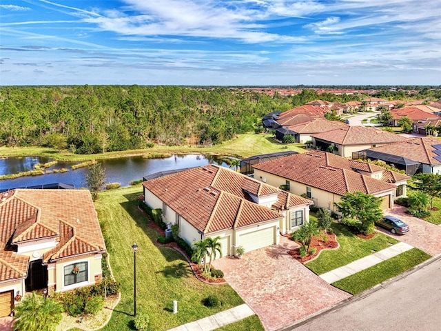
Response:
[{"label": "cream stucco house right behind the central house, partly hidden by trees", "polygon": [[314,206],[336,210],[347,192],[363,192],[382,198],[382,209],[406,194],[407,179],[378,165],[353,161],[318,150],[294,154],[254,165],[254,178],[269,185],[288,185],[293,194],[306,194]]}]

